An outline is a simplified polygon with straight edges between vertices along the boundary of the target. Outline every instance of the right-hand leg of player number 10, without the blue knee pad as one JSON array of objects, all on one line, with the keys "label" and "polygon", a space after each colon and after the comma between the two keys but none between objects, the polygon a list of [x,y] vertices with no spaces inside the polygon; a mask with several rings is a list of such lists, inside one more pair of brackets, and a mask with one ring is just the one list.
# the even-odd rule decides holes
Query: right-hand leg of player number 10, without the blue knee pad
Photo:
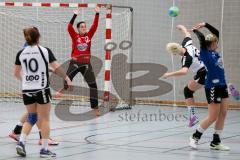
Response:
[{"label": "right-hand leg of player number 10, without the blue knee pad", "polygon": [[48,139],[50,135],[50,109],[51,109],[51,93],[50,89],[42,90],[37,95],[37,113],[41,128],[42,148],[40,150],[40,157],[55,157],[56,154],[48,149]]}]

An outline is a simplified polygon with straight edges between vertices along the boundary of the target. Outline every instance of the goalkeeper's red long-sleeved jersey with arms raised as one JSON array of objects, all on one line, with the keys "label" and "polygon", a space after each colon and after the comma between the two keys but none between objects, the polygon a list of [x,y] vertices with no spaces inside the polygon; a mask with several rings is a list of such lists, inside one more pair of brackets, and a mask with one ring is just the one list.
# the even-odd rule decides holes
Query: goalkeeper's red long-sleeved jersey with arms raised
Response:
[{"label": "goalkeeper's red long-sleeved jersey with arms raised", "polygon": [[73,25],[68,24],[68,33],[72,39],[71,57],[76,58],[79,63],[89,63],[91,58],[91,40],[98,27],[99,14],[95,15],[90,30],[80,35],[75,32]]}]

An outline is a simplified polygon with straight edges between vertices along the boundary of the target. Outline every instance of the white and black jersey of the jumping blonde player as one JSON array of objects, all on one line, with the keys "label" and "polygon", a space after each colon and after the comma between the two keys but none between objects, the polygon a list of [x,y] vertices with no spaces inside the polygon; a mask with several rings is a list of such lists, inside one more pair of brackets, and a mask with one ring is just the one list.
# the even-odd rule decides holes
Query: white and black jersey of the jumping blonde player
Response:
[{"label": "white and black jersey of the jumping blonde player", "polygon": [[199,50],[192,44],[190,37],[184,38],[182,46],[187,50],[182,56],[182,67],[187,67],[196,73],[199,69],[205,67],[200,60]]}]

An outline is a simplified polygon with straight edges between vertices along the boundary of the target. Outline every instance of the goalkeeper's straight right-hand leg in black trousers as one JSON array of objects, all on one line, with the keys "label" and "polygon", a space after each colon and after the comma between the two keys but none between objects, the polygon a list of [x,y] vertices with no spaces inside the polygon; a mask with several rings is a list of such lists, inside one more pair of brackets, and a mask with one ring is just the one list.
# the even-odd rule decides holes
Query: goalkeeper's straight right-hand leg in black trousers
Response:
[{"label": "goalkeeper's straight right-hand leg in black trousers", "polygon": [[100,116],[100,110],[98,108],[98,90],[96,78],[92,69],[91,64],[84,65],[80,67],[80,72],[82,73],[85,81],[90,88],[90,103],[91,108],[94,109],[96,116]]}]

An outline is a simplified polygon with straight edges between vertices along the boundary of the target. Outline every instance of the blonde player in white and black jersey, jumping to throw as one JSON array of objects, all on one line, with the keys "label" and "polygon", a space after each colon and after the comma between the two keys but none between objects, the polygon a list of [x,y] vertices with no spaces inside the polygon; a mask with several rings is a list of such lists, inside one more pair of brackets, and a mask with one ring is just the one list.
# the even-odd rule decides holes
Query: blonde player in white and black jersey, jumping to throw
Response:
[{"label": "blonde player in white and black jersey, jumping to throw", "polygon": [[182,46],[178,43],[168,43],[166,49],[172,54],[182,56],[182,68],[178,71],[165,73],[163,78],[183,76],[189,70],[196,73],[194,78],[184,88],[184,96],[189,112],[188,126],[192,127],[198,122],[198,118],[195,115],[193,94],[204,85],[206,69],[203,62],[199,60],[199,50],[192,44],[191,34],[187,31],[186,27],[178,25],[176,28],[185,35]]}]

